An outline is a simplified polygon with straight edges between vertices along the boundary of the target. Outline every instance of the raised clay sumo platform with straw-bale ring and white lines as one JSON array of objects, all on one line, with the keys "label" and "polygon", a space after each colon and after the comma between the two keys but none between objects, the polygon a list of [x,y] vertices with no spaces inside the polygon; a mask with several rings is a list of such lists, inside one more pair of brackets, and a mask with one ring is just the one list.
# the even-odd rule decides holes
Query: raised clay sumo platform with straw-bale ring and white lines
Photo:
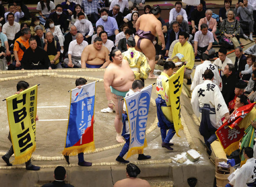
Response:
[{"label": "raised clay sumo platform with straw-bale ring and white lines", "polygon": [[[103,88],[103,69],[73,70],[61,69],[53,71],[13,71],[0,72],[0,99],[5,99],[16,92],[16,83],[19,80],[29,82],[30,86],[38,86],[36,123],[36,150],[33,153],[32,163],[40,166],[39,171],[27,171],[25,165],[6,167],[0,159],[0,186],[41,186],[53,181],[53,171],[56,166],[64,166],[67,170],[66,181],[74,186],[113,186],[120,179],[125,178],[124,164],[115,161],[123,144],[115,140],[114,117],[115,113],[101,113],[107,107]],[[68,90],[75,87],[75,80],[84,77],[88,82],[98,80],[96,86],[95,108],[95,153],[84,154],[84,159],[93,162],[92,167],[79,167],[77,156],[70,157],[70,165],[61,155],[65,146],[67,119],[69,114],[70,93]],[[156,80],[146,80],[145,86]],[[172,142],[174,151],[161,147],[160,130],[157,127],[155,86],[152,92],[152,102],[147,121],[147,144],[144,154],[151,155],[149,160],[137,160],[133,155],[128,160],[141,169],[140,178],[146,179],[152,186],[189,186],[187,179],[197,178],[196,186],[213,186],[215,167],[208,159],[203,148],[202,136],[198,132],[198,121],[193,115],[190,100],[183,90],[181,96],[183,130],[175,135]],[[4,155],[11,143],[7,139],[9,125],[6,112],[6,102],[0,102],[0,155]],[[57,121],[56,121],[57,120]],[[175,156],[184,154],[194,148],[201,153],[196,162],[181,161],[177,163]],[[126,156],[126,155],[125,155]],[[124,158],[125,158],[124,156]],[[13,160],[11,157],[10,160]]]}]

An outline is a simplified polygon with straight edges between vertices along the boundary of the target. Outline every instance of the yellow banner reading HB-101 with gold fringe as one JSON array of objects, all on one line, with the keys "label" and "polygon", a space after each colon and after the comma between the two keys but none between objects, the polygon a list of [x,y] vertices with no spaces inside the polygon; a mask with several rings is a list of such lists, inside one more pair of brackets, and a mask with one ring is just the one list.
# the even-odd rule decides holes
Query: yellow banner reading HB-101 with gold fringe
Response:
[{"label": "yellow banner reading HB-101 with gold fringe", "polygon": [[35,151],[37,85],[6,98],[7,114],[15,159],[24,163]]}]

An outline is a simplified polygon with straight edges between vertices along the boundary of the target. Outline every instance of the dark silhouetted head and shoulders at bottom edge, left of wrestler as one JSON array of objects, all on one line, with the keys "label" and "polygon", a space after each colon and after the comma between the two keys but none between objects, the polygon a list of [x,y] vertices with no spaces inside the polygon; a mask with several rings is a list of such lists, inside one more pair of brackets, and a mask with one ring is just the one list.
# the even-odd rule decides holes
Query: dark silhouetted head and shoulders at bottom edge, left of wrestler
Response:
[{"label": "dark silhouetted head and shoulders at bottom edge, left of wrestler", "polygon": [[66,177],[67,177],[67,175],[66,175],[65,168],[62,167],[62,166],[58,166],[54,170],[54,178],[55,178],[55,180],[52,183],[48,183],[48,184],[42,185],[42,187],[50,187],[50,186],[74,187],[71,184],[66,184],[65,183],[65,178]]}]

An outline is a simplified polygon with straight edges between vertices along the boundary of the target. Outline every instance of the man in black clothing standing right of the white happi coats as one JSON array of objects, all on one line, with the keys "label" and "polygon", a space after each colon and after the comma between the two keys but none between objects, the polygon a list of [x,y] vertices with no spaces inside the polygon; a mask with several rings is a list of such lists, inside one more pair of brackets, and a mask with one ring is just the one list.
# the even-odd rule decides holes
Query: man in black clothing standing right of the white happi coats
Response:
[{"label": "man in black clothing standing right of the white happi coats", "polygon": [[225,103],[228,103],[234,98],[234,87],[238,82],[238,78],[235,74],[236,69],[233,64],[227,63],[223,69],[222,79],[222,96]]}]

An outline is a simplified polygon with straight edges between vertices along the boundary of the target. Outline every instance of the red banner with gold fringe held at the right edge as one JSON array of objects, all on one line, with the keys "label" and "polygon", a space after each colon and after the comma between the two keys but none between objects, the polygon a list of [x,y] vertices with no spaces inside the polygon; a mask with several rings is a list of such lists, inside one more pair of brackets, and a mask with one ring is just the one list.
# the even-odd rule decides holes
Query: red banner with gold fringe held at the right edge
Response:
[{"label": "red banner with gold fringe held at the right edge", "polygon": [[229,120],[216,131],[216,135],[227,155],[239,148],[239,142],[244,135],[244,128],[240,129],[238,124],[251,111],[254,105],[255,103],[251,103],[238,108],[232,113]]}]

